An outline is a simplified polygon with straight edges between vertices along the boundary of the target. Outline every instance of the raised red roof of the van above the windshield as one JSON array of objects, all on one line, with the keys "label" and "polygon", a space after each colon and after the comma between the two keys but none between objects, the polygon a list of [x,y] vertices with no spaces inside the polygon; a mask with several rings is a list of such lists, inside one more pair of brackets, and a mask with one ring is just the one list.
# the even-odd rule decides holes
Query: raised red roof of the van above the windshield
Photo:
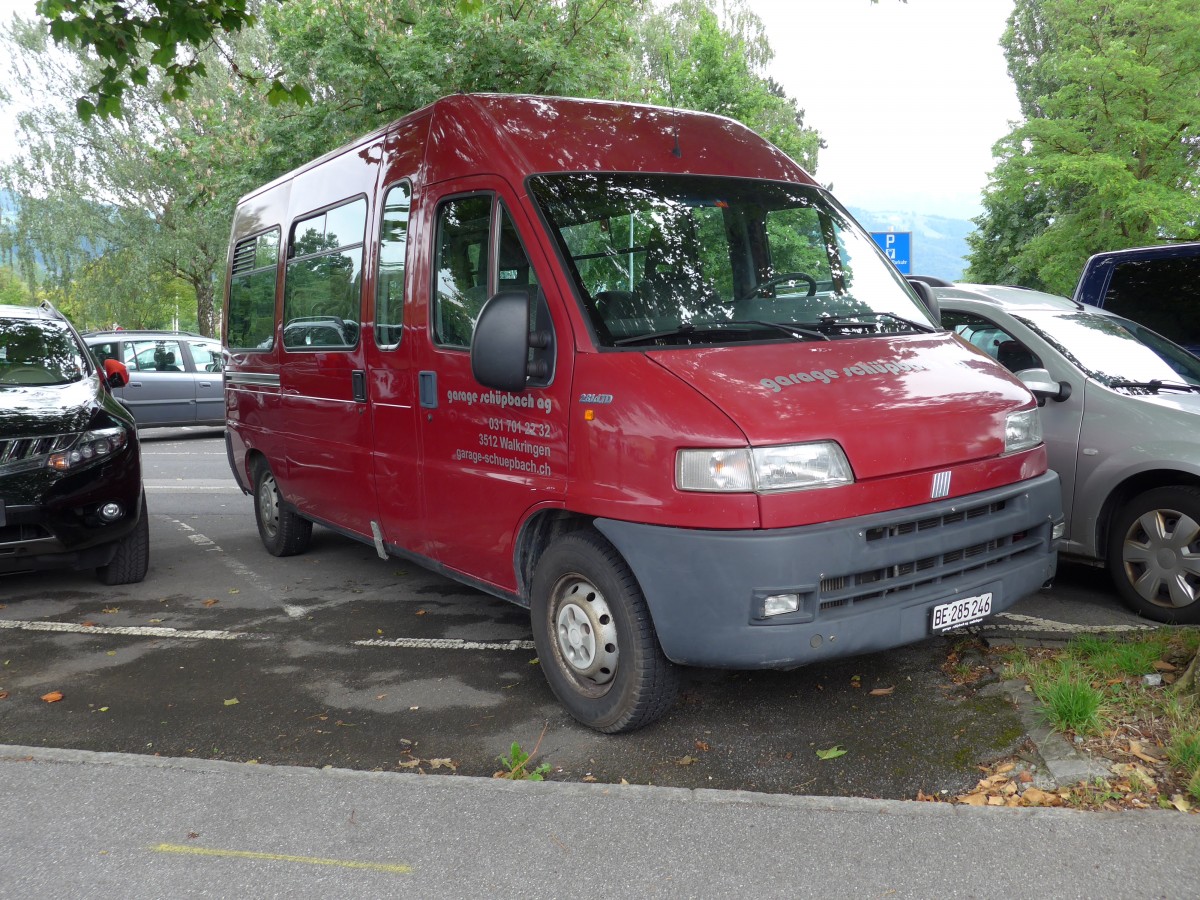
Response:
[{"label": "raised red roof of the van above the windshield", "polygon": [[433,180],[438,181],[491,170],[515,182],[546,172],[653,172],[816,184],[782,150],[740,122],[712,113],[572,97],[456,94],[281,175],[244,199],[421,119],[430,120],[426,158],[437,161]]}]

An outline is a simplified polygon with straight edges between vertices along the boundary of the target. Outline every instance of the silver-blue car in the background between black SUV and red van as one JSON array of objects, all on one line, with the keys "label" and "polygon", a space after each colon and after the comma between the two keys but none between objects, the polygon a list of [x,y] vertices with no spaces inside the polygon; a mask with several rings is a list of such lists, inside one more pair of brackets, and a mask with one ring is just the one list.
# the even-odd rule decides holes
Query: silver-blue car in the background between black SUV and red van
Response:
[{"label": "silver-blue car in the background between black SUV and red van", "polygon": [[130,370],[130,383],[113,394],[139,428],[224,425],[220,341],[182,331],[92,331],[83,340],[96,359]]}]

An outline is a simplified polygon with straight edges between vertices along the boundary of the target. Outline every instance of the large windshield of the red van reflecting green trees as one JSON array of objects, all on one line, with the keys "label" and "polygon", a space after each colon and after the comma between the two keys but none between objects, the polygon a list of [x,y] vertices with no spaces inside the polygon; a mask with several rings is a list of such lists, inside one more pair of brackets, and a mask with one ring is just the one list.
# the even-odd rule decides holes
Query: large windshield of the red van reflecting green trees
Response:
[{"label": "large windshield of the red van reflecting green trees", "polygon": [[529,187],[601,346],[936,330],[820,188],[613,173],[538,175]]}]

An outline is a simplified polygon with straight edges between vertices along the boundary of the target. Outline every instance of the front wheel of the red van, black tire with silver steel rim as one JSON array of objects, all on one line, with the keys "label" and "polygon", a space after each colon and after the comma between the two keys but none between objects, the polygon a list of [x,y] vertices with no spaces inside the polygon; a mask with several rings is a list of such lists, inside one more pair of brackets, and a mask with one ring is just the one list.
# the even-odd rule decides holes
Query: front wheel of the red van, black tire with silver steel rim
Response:
[{"label": "front wheel of the red van, black tire with silver steel rim", "polygon": [[574,532],[542,554],[529,612],[546,680],[583,725],[635,731],[674,703],[679,670],[662,655],[637,580],[596,532]]}]

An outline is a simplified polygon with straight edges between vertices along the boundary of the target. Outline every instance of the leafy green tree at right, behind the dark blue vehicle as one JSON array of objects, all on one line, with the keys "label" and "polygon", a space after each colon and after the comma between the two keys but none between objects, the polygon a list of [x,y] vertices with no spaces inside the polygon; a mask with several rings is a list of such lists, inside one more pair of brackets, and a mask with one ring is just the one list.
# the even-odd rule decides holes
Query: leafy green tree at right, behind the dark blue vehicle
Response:
[{"label": "leafy green tree at right, behind the dark blue vehicle", "polygon": [[1025,120],[997,143],[967,277],[1069,294],[1086,258],[1200,238],[1200,6],[1016,0]]}]

